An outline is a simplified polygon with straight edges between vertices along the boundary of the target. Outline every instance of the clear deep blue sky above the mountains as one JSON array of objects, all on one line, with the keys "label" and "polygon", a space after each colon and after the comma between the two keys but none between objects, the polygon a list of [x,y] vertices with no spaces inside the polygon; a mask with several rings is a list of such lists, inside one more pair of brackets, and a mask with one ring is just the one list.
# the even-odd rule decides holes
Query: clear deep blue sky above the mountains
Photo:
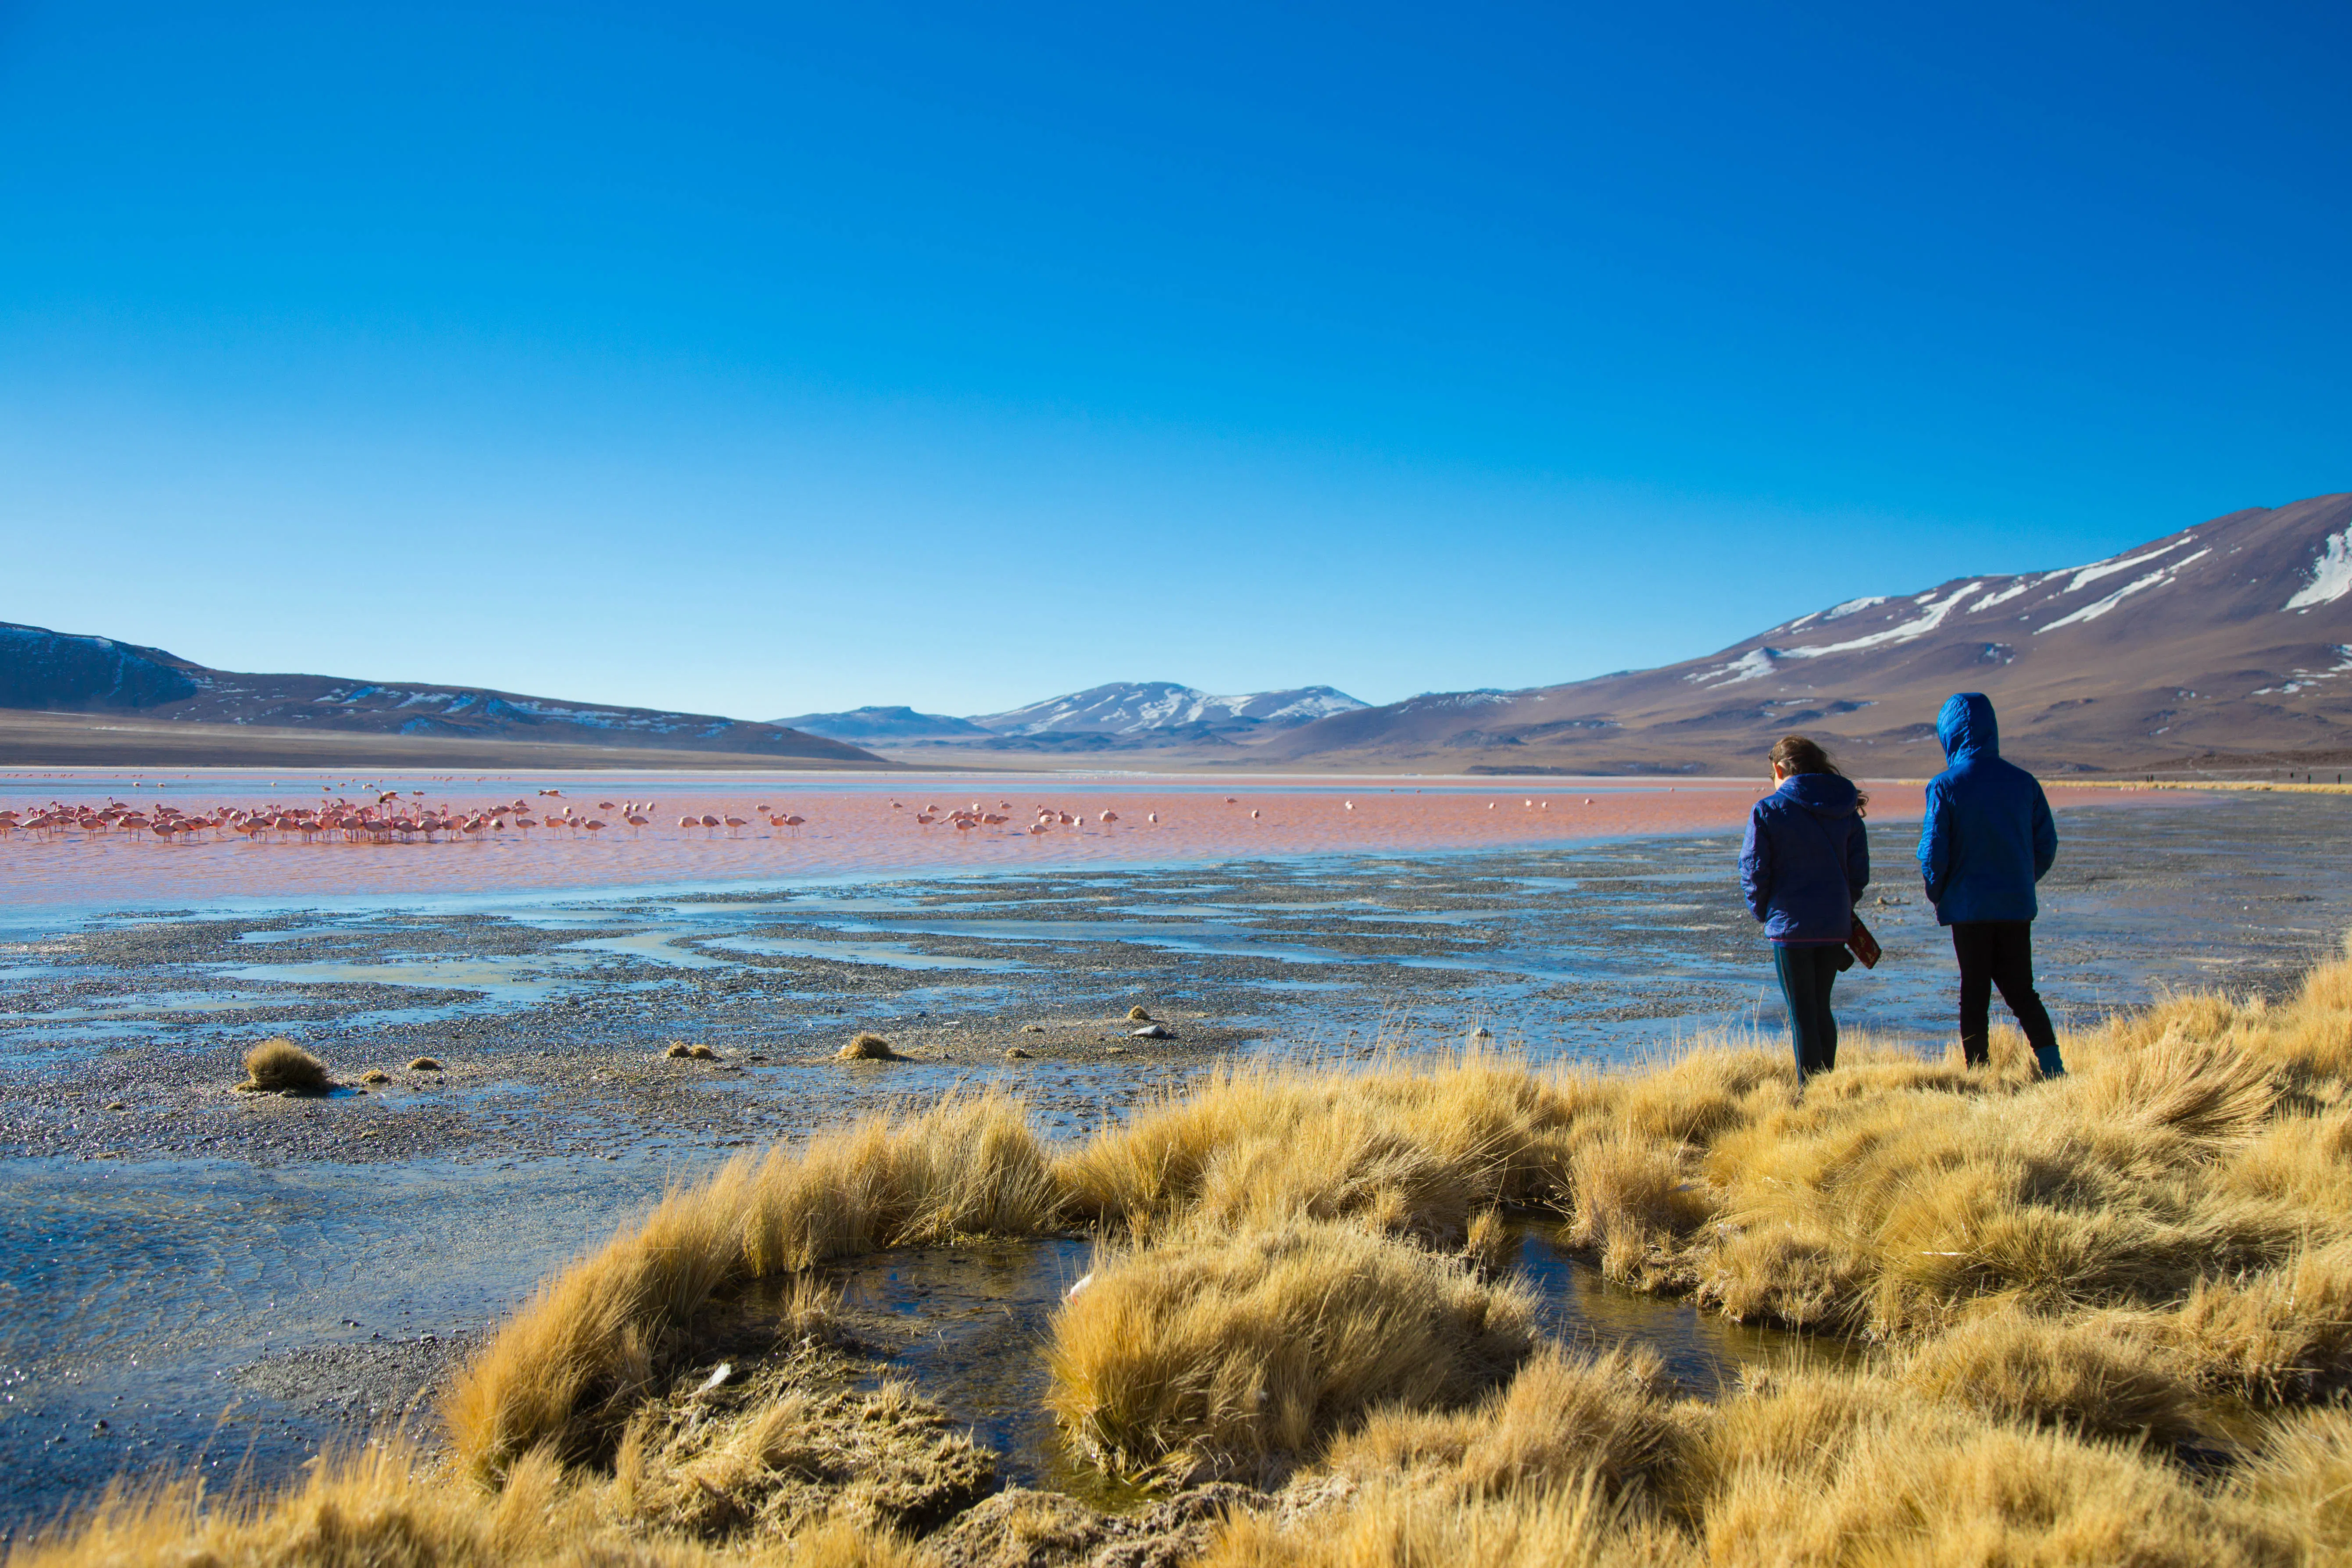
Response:
[{"label": "clear deep blue sky above the mountains", "polygon": [[1369,701],[2352,487],[2326,5],[0,5],[0,621]]}]

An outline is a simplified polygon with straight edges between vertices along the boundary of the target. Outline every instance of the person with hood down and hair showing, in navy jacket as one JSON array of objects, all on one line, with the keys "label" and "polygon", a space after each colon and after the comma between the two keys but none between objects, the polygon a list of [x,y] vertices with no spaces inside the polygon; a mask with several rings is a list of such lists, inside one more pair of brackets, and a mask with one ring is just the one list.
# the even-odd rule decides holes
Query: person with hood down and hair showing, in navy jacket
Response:
[{"label": "person with hood down and hair showing, in navy jacket", "polygon": [[1870,886],[1870,839],[1863,835],[1870,797],[1804,736],[1771,748],[1771,776],[1778,788],[1748,813],[1740,891],[1771,938],[1802,1088],[1804,1079],[1837,1065],[1830,990],[1853,964],[1846,954],[1853,900]]}]

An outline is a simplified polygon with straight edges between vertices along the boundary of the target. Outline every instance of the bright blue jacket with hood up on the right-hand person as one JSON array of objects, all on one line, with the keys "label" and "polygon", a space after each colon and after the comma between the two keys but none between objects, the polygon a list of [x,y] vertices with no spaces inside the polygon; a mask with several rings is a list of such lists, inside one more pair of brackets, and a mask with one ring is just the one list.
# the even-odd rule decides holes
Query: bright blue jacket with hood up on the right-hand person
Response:
[{"label": "bright blue jacket with hood up on the right-hand person", "polygon": [[1945,698],[1936,715],[1947,766],[1926,785],[1919,875],[1945,926],[2032,919],[2034,884],[2058,858],[2058,823],[2032,773],[2002,762],[2002,731],[1983,691]]}]

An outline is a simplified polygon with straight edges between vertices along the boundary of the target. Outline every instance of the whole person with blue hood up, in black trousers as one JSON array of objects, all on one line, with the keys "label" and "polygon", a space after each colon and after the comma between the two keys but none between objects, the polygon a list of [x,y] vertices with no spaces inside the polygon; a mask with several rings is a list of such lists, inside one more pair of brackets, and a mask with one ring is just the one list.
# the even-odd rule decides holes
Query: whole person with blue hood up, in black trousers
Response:
[{"label": "whole person with blue hood up, in black trousers", "polygon": [[1945,698],[1936,738],[1950,766],[1926,785],[1919,875],[1936,919],[1952,926],[1959,959],[1959,1051],[1990,1060],[1992,990],[2018,1016],[2044,1077],[2065,1072],[2058,1032],[2034,992],[2034,884],[2058,860],[2058,823],[2042,783],[2002,759],[2002,731],[1983,691]]}]

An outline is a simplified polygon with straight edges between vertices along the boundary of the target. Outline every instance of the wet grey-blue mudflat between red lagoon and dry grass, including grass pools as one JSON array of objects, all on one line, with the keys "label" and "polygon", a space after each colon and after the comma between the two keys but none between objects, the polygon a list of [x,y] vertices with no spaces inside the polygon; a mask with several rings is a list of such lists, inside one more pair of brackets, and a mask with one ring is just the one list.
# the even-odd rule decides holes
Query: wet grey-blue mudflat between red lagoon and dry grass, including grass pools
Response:
[{"label": "wet grey-blue mudflat between red lagoon and dry grass, including grass pools", "polygon": [[[2063,1016],[2157,987],[2281,990],[2352,924],[2352,813],[2333,797],[2063,809],[2060,832],[2037,940]],[[1912,837],[1891,820],[1872,835],[1886,893],[1865,912],[1889,959],[1839,1001],[1849,1027],[1940,1048],[1952,961],[1917,900]],[[348,1425],[421,1408],[452,1345],[666,1182],[955,1084],[1004,1081],[1077,1135],[1232,1053],[1345,1060],[1484,1027],[1536,1060],[1613,1065],[1708,1030],[1776,1030],[1733,853],[1736,837],[1693,832],[19,905],[0,931],[9,1523],[148,1462],[282,1474]],[[1136,1039],[1131,1006],[1174,1039]],[[913,1060],[835,1063],[854,1030]],[[303,1041],[346,1088],[233,1093],[235,1058],[266,1034]],[[668,1060],[673,1039],[720,1060]],[[419,1056],[442,1067],[409,1070]],[[360,1093],[367,1070],[388,1081]],[[920,1328],[894,1354],[948,1389],[1007,1474],[1044,1483],[1049,1434],[1014,1375],[1033,1356],[997,1347],[1035,1342],[1073,1262],[1030,1248],[929,1295],[868,1281],[875,1309]],[[1684,1309],[1595,1293],[1564,1260],[1526,1267],[1595,1338],[1738,1333],[1677,1328]],[[1698,1385],[1740,1354],[1710,1345],[1670,1345],[1677,1375]]]}]

